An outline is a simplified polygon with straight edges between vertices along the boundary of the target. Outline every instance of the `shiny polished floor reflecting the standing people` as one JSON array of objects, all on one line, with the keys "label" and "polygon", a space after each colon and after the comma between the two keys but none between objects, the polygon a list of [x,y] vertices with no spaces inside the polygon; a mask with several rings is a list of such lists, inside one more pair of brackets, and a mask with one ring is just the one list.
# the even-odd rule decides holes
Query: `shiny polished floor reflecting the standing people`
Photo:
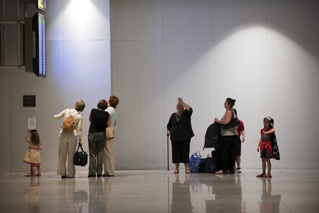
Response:
[{"label": "shiny polished floor reflecting the standing people", "polygon": [[121,170],[115,177],[0,174],[1,212],[319,212],[319,170],[173,174]]}]

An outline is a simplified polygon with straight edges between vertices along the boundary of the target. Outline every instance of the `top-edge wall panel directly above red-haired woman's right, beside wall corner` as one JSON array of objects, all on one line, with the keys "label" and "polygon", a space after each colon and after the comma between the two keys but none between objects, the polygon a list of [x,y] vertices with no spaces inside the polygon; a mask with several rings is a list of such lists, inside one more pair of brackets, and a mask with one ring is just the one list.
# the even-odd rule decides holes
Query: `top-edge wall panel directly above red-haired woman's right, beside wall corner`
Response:
[{"label": "top-edge wall panel directly above red-haired woman's right, beside wall corner", "polygon": [[161,41],[163,7],[158,0],[111,1],[112,41]]}]

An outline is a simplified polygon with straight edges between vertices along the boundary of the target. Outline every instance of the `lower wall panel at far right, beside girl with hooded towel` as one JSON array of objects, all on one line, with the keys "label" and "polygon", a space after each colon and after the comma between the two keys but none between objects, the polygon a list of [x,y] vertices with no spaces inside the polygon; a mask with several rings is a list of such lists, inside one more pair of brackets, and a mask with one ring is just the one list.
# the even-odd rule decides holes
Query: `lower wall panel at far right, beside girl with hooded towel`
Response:
[{"label": "lower wall panel at far right, beside girl with hooded towel", "polygon": [[[299,44],[302,43],[302,46]],[[267,41],[267,114],[281,153],[277,167],[317,168],[318,39]]]}]

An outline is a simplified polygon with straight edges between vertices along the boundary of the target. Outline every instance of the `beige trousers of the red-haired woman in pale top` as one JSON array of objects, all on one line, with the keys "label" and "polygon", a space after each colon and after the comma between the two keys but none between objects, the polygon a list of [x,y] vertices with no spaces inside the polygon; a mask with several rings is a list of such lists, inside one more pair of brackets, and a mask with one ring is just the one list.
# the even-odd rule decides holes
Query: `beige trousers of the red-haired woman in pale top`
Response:
[{"label": "beige trousers of the red-haired woman in pale top", "polygon": [[114,175],[113,139],[105,141],[103,151],[104,174]]}]

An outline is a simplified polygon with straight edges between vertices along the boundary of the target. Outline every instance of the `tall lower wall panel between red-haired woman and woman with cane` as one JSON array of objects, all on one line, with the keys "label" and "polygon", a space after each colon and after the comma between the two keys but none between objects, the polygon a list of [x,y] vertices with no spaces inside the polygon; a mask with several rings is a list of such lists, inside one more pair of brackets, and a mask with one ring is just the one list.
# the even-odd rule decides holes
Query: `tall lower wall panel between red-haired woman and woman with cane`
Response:
[{"label": "tall lower wall panel between red-haired woman and woman with cane", "polygon": [[112,42],[115,169],[163,168],[162,42]]}]

